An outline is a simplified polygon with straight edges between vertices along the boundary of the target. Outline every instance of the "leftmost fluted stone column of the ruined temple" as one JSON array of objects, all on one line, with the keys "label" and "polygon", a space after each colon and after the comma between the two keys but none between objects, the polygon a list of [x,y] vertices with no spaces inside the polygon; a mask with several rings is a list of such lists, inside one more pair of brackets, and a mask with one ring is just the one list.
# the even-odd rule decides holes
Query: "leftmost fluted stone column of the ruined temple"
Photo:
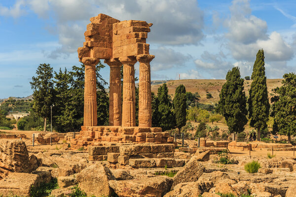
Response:
[{"label": "leftmost fluted stone column of the ruined temple", "polygon": [[83,126],[97,126],[97,82],[96,65],[97,58],[82,58],[85,65],[84,75],[84,119]]}]

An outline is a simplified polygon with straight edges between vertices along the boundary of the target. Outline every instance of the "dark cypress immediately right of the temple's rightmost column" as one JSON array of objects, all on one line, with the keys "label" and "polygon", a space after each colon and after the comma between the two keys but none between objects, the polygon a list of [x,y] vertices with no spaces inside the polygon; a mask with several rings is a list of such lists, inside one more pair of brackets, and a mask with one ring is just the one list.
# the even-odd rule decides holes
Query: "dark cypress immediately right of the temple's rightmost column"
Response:
[{"label": "dark cypress immediately right of the temple's rightmost column", "polygon": [[174,114],[172,111],[172,103],[168,97],[168,87],[163,84],[158,88],[157,99],[159,101],[158,113],[159,113],[159,127],[163,131],[173,129],[175,126]]}]

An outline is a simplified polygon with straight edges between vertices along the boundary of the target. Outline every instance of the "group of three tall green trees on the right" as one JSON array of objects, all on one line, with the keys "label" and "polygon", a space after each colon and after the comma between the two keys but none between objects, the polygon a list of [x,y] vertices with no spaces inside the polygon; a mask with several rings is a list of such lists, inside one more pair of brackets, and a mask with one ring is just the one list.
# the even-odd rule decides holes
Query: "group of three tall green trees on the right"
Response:
[{"label": "group of three tall green trees on the right", "polygon": [[257,130],[258,139],[260,131],[267,129],[270,115],[274,118],[272,134],[288,135],[291,142],[291,135],[296,135],[296,74],[284,74],[283,85],[273,90],[275,96],[270,99],[270,106],[264,65],[264,51],[261,49],[253,66],[248,99],[243,91],[244,79],[239,68],[229,70],[216,110],[225,117],[231,133],[244,131],[249,120],[250,126]]}]

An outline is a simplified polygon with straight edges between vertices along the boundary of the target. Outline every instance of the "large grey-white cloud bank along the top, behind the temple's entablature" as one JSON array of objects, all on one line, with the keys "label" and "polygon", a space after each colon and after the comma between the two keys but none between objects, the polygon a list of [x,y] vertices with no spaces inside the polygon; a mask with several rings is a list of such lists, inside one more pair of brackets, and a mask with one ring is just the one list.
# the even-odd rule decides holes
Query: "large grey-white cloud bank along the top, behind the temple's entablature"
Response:
[{"label": "large grey-white cloud bank along the top, behind the temple's entablature", "polygon": [[45,23],[47,30],[56,30],[62,44],[52,52],[52,58],[75,52],[78,43],[82,46],[89,18],[99,13],[153,23],[148,43],[198,45],[204,37],[204,14],[196,0],[17,0],[11,8],[0,6],[0,15],[16,18],[28,8],[40,18],[55,20],[53,25],[49,22],[53,28]]}]

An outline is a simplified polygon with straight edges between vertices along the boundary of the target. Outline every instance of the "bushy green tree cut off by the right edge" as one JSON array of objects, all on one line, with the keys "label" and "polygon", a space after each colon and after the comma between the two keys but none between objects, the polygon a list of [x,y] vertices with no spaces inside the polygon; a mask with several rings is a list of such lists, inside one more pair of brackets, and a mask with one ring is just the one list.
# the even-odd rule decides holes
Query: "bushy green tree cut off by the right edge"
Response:
[{"label": "bushy green tree cut off by the right edge", "polygon": [[291,135],[296,135],[296,74],[286,73],[283,77],[283,85],[274,89],[276,96],[271,98],[271,116],[274,117],[273,131],[288,135],[291,143]]}]

